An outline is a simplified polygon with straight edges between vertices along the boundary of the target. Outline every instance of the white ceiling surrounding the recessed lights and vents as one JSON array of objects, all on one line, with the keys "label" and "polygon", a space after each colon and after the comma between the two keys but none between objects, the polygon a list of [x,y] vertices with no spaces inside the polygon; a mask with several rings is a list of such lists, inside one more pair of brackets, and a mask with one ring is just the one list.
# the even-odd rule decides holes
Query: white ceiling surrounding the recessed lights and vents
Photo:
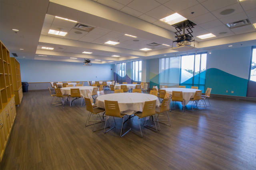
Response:
[{"label": "white ceiling surrounding the recessed lights and vents", "polygon": [[[234,9],[234,12],[221,15],[220,12],[226,9]],[[205,40],[195,38],[198,51],[242,41],[255,43],[250,40],[256,36],[252,25],[234,29],[226,26],[226,23],[244,19],[256,23],[256,0],[1,0],[0,10],[1,41],[11,53],[26,56],[25,59],[82,62],[88,58],[104,64],[177,53],[164,45],[155,46],[148,52],[140,51],[152,48],[147,44],[153,42],[172,45],[174,27],[159,20],[175,12],[197,24],[192,29],[194,37],[206,33],[216,35]],[[89,33],[81,31],[74,28],[76,23],[55,16],[76,20],[94,29]],[[13,28],[20,31],[14,33]],[[49,29],[68,33],[65,37],[51,35]],[[221,32],[226,33],[219,34]],[[125,33],[137,38],[125,36]],[[120,43],[104,44],[109,40]],[[44,50],[42,46],[54,47],[54,50]],[[83,51],[92,54],[82,54]]]}]

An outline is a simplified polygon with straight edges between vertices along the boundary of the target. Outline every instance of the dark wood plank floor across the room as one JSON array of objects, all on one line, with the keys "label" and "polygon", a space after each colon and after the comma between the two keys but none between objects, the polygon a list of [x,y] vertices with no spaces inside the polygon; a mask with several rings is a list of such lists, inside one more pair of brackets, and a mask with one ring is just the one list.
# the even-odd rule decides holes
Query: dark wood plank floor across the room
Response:
[{"label": "dark wood plank floor across the room", "polygon": [[[211,108],[170,112],[158,133],[138,121],[120,138],[84,127],[86,107],[50,106],[47,91],[24,93],[0,170],[256,169],[256,104],[211,100]],[[101,127],[98,124],[97,127]],[[127,129],[127,127],[125,128]]]}]

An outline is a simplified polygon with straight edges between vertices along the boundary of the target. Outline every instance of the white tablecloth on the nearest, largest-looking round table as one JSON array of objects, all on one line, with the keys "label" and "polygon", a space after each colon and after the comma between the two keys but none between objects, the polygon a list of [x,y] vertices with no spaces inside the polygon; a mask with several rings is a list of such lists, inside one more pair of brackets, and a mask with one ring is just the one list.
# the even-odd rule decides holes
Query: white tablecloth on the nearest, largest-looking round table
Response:
[{"label": "white tablecloth on the nearest, largest-looking round table", "polygon": [[127,115],[142,111],[146,101],[156,100],[156,106],[160,106],[156,96],[144,93],[112,93],[98,96],[95,102],[97,107],[105,108],[104,100],[118,101],[120,111],[126,111]]}]

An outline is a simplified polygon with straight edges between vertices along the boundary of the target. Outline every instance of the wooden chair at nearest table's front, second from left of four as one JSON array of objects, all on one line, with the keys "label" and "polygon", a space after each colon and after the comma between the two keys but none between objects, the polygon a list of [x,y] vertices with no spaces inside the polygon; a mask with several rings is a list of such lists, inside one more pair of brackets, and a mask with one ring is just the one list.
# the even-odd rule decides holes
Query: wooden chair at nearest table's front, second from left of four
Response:
[{"label": "wooden chair at nearest table's front, second from left of four", "polygon": [[[108,129],[106,132],[105,132],[105,129],[106,129],[106,121],[105,121],[105,127],[104,127],[104,133],[107,133],[108,131],[114,129],[116,127],[116,121],[115,121],[115,117],[120,117],[123,119],[123,123],[122,123],[122,128],[121,128],[121,133],[120,133],[120,137],[123,137],[124,135],[126,135],[130,130],[131,130],[131,127],[128,131],[126,131],[123,135],[122,135],[122,130],[123,130],[123,126],[124,126],[124,116],[126,114],[123,114],[120,112],[120,109],[119,109],[119,106],[118,106],[118,102],[117,101],[109,101],[109,100],[105,100],[105,114],[106,116],[112,116],[114,118],[114,123],[115,123],[115,126],[114,127],[111,127],[110,129]],[[128,121],[130,123],[130,119],[128,118]]]}]

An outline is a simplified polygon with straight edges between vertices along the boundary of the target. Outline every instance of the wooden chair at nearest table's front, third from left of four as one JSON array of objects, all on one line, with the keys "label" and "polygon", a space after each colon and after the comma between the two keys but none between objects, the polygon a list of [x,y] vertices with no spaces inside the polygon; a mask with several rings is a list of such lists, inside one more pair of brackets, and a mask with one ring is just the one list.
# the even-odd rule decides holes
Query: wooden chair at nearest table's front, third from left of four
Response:
[{"label": "wooden chair at nearest table's front, third from left of four", "polygon": [[[140,119],[145,117],[145,120],[144,120],[144,123],[143,123],[144,127],[148,127],[147,126],[148,120],[147,120],[146,125],[145,125],[146,117],[152,116],[152,115],[155,115],[155,114],[156,114],[156,100],[145,102],[142,112],[138,111],[138,112],[134,113],[134,115],[136,115],[138,117],[139,126],[140,126]],[[157,117],[156,117],[156,119],[157,119]],[[156,126],[156,121],[154,121],[154,123],[155,123],[155,126]],[[156,127],[156,132],[157,132],[157,127]],[[141,133],[141,137],[143,137],[141,127],[140,127],[140,133]]]}]

